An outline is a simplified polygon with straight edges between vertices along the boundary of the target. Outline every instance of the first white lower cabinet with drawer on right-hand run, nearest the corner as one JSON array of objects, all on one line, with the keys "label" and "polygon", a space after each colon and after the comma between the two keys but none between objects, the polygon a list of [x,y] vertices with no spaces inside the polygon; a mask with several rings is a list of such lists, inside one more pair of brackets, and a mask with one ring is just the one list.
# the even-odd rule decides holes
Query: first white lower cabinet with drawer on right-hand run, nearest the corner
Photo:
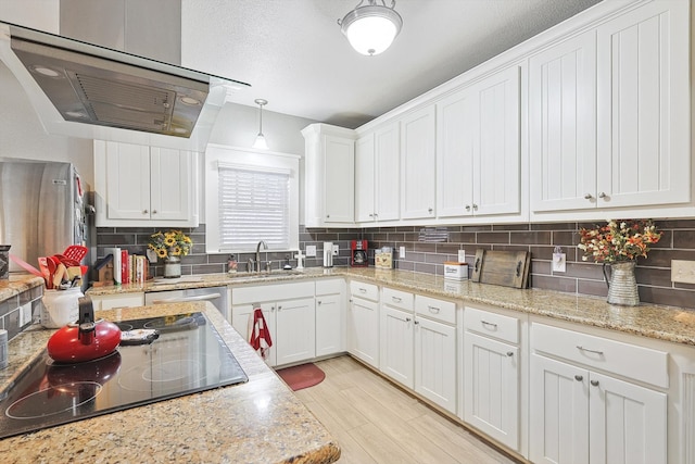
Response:
[{"label": "first white lower cabinet with drawer on right-hand run, nearest the corner", "polygon": [[376,285],[350,283],[348,351],[379,368],[379,288]]}]

